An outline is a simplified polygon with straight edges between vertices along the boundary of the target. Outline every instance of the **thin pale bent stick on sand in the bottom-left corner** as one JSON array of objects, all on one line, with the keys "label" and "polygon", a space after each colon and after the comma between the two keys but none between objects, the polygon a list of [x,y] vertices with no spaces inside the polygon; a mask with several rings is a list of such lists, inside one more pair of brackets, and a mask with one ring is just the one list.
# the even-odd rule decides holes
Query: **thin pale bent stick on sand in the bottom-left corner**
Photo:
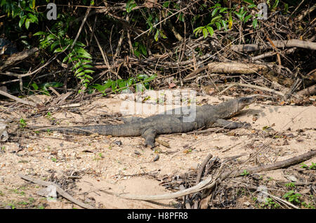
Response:
[{"label": "thin pale bent stick on sand in the bottom-left corner", "polygon": [[59,187],[57,184],[54,184],[53,182],[47,182],[44,180],[37,180],[37,179],[34,179],[34,178],[26,176],[26,175],[22,175],[22,174],[19,174],[18,176],[21,177],[23,180],[27,180],[29,182],[33,182],[34,184],[39,184],[41,186],[48,187],[50,185],[53,185],[54,187],[56,187],[56,191],[58,192],[58,194],[60,194],[64,198],[66,198],[68,201],[71,201],[72,203],[79,205],[81,208],[94,209],[91,205],[88,205],[86,203],[82,203],[81,201],[77,201],[75,198],[70,196],[70,194],[67,194],[66,191],[61,189],[61,187]]}]

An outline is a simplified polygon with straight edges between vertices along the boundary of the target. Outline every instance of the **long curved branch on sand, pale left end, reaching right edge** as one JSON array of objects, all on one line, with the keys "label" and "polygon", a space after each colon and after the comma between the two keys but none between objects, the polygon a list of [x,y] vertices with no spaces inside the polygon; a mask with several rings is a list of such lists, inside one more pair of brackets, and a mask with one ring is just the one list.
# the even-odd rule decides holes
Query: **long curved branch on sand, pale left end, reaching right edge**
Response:
[{"label": "long curved branch on sand, pale left end, reaching right edge", "polygon": [[[294,165],[296,163],[301,163],[305,160],[308,160],[309,158],[312,158],[313,156],[316,156],[316,150],[312,150],[300,156],[294,156],[293,158],[288,158],[284,161],[279,161],[277,163],[271,163],[268,165],[258,165],[252,168],[243,168],[242,170],[233,170],[233,171],[229,170],[229,171],[226,171],[225,173],[220,174],[220,176],[216,176],[216,177],[209,176],[206,178],[206,180],[199,182],[199,184],[195,185],[194,187],[190,187],[183,191],[177,191],[172,194],[159,194],[159,195],[152,195],[152,196],[142,196],[142,195],[138,196],[138,195],[124,194],[124,195],[119,195],[119,197],[130,199],[130,200],[141,200],[141,201],[157,201],[157,200],[178,198],[180,196],[193,194],[198,191],[202,191],[204,189],[211,189],[217,182],[223,181],[228,177],[239,177],[242,173],[244,173],[244,170],[246,170],[247,173],[249,174],[259,173],[259,172],[268,171],[268,170],[277,170],[279,168],[285,168],[287,166]],[[222,168],[223,168],[223,165],[220,166],[220,170]],[[218,173],[220,173],[220,170],[218,170]]]}]

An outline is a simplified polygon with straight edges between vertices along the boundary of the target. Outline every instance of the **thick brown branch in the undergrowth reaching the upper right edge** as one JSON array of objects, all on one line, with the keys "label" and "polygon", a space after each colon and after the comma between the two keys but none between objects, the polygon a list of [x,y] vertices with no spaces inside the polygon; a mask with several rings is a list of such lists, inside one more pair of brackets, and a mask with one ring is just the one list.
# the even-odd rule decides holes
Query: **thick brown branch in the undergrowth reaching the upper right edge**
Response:
[{"label": "thick brown branch in the undergrowth reaching the upper right edge", "polygon": [[[272,41],[275,44],[276,48],[305,48],[308,50],[316,50],[316,43],[310,41],[303,41],[298,39],[289,39],[289,40],[275,40]],[[270,46],[272,48],[270,42],[266,42],[265,45]],[[243,45],[234,45],[232,46],[232,50],[238,52],[253,52],[256,50],[265,50],[266,46],[259,44],[243,44]]]}]

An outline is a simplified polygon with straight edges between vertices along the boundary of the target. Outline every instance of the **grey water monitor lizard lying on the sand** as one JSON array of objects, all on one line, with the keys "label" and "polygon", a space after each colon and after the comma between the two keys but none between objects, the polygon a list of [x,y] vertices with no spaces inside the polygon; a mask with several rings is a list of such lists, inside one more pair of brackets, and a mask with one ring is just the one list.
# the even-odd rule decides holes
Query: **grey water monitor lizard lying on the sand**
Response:
[{"label": "grey water monitor lizard lying on the sand", "polygon": [[[95,125],[95,126],[72,126],[72,127],[51,127],[36,128],[37,130],[52,130],[61,133],[84,134],[89,135],[98,133],[100,135],[112,136],[142,136],[145,138],[145,146],[154,147],[154,141],[157,135],[171,133],[187,133],[200,128],[223,127],[223,128],[242,128],[249,126],[248,123],[238,123],[228,121],[232,116],[238,114],[244,107],[254,102],[254,97],[238,97],[218,105],[204,104],[195,107],[194,119],[190,120],[189,113],[183,113],[185,109],[169,110],[169,114],[157,114],[145,119],[135,118],[124,121],[118,125]],[[190,108],[190,107],[189,107]],[[190,110],[190,109],[189,109]],[[180,111],[180,113],[179,113]],[[192,113],[191,111],[191,113]]]}]

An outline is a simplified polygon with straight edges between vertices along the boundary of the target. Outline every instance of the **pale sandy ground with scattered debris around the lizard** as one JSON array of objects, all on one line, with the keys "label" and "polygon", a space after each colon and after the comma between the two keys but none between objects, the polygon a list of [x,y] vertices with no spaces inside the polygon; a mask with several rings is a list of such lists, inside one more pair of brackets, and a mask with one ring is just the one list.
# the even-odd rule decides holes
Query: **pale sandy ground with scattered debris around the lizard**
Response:
[{"label": "pale sandy ground with scattered debris around the lizard", "polygon": [[[50,115],[28,118],[35,110],[13,109],[1,112],[0,118],[15,121],[8,124],[8,132],[23,118],[27,126],[46,126],[58,123],[61,126],[104,123],[109,115],[117,114],[123,107],[131,108],[125,96],[95,98],[82,102],[75,109],[52,110]],[[142,96],[143,97],[143,96]],[[146,98],[147,96],[145,96]],[[153,96],[150,100],[156,100]],[[229,98],[229,97],[223,97]],[[49,98],[48,98],[49,99]],[[47,98],[46,98],[47,100]],[[197,96],[197,104],[216,104],[218,97]],[[152,106],[147,103],[146,106]],[[170,103],[168,109],[173,104]],[[176,105],[178,107],[180,105]],[[161,112],[164,106],[154,109]],[[133,110],[133,109],[132,109]],[[127,111],[127,112],[126,112]],[[143,107],[143,111],[148,111]],[[134,110],[135,112],[135,110]],[[149,116],[143,112],[138,116]],[[125,115],[133,114],[125,109]],[[65,173],[82,173],[79,179],[66,189],[74,198],[96,205],[97,208],[173,208],[176,200],[148,203],[128,201],[109,193],[155,195],[171,193],[154,177],[180,175],[194,170],[207,154],[227,158],[242,154],[238,161],[246,161],[250,154],[261,151],[259,163],[273,163],[301,155],[315,149],[316,107],[291,105],[272,106],[268,102],[256,102],[233,118],[235,121],[251,123],[251,128],[231,130],[228,133],[172,134],[160,135],[159,140],[168,142],[170,148],[161,144],[156,151],[143,147],[141,137],[110,137],[102,135],[63,135],[61,133],[34,133],[21,130],[17,142],[1,142],[0,153],[0,204],[3,207],[18,206],[26,202],[27,208],[79,208],[69,201],[58,198],[47,201],[37,191],[43,187],[26,182],[18,174],[29,175],[40,180],[67,178]],[[107,123],[121,123],[111,118]],[[258,130],[273,129],[282,137],[262,137]],[[159,160],[153,161],[159,153]],[[316,163],[313,158],[306,164]],[[246,163],[247,165],[247,163]],[[254,162],[248,162],[254,165]],[[52,173],[54,173],[52,178]],[[287,180],[284,172],[275,170],[265,173],[275,180]],[[35,201],[33,201],[35,200]],[[31,202],[32,201],[32,202]]]}]

